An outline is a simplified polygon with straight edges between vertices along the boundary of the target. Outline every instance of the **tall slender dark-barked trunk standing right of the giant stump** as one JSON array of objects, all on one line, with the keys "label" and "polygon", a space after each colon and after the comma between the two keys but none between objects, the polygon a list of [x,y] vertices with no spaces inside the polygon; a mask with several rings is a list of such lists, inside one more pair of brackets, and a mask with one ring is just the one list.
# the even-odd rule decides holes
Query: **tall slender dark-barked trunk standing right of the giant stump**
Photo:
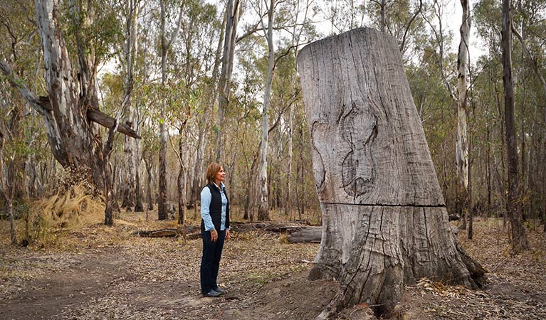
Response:
[{"label": "tall slender dark-barked trunk standing right of the giant stump", "polygon": [[512,245],[516,251],[529,250],[529,240],[522,222],[520,177],[518,174],[518,142],[515,134],[514,87],[512,79],[512,8],[503,0],[503,85],[506,150],[508,156],[508,199],[506,214],[512,226]]}]

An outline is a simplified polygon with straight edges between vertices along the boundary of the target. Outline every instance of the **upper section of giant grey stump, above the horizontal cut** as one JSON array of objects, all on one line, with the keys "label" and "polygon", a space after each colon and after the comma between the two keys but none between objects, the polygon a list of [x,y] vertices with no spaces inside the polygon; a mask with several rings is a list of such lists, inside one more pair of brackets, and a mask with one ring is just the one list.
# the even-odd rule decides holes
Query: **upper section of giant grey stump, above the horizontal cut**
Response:
[{"label": "upper section of giant grey stump, above the horizontal cut", "polygon": [[359,28],[298,55],[320,202],[445,206],[400,52],[384,41]]}]

